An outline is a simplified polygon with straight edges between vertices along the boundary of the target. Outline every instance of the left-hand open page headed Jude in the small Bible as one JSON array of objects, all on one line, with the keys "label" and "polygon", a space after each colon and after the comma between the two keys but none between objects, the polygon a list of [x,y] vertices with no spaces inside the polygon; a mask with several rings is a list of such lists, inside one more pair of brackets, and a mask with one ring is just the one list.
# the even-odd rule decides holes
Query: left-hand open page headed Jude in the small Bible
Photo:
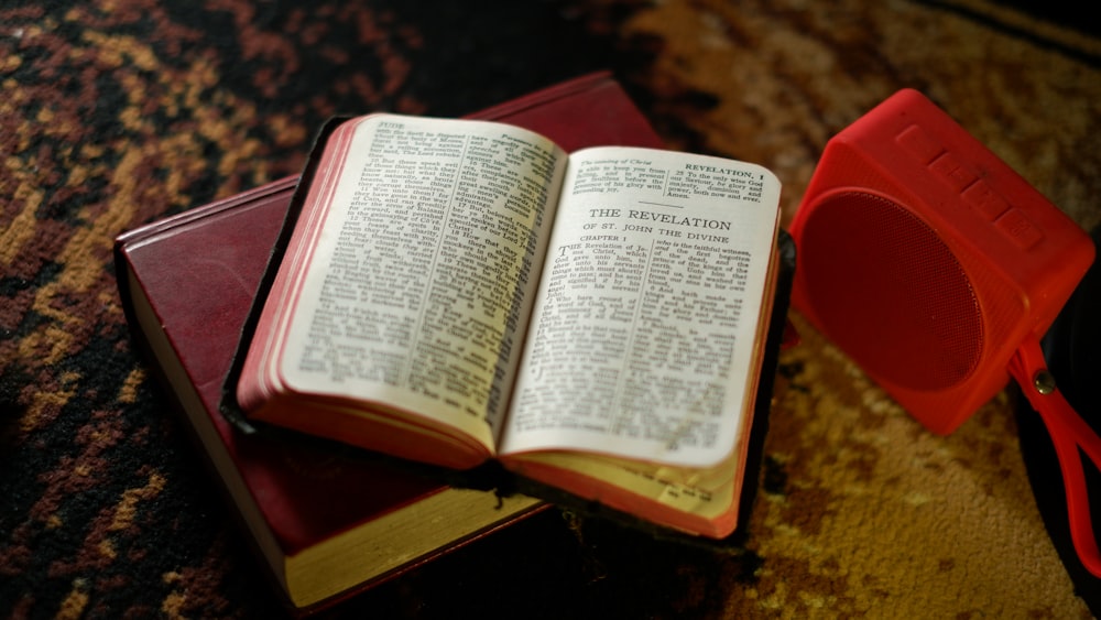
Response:
[{"label": "left-hand open page headed Jude in the small Bible", "polygon": [[342,168],[319,189],[331,196],[296,285],[282,380],[492,445],[566,155],[501,123],[353,122]]}]

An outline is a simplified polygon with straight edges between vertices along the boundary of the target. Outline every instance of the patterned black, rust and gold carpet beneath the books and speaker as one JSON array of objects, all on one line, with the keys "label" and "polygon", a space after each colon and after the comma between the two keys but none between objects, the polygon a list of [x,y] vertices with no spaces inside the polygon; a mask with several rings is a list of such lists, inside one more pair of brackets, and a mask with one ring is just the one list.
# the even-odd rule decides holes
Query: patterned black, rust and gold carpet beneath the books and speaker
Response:
[{"label": "patterned black, rust and gold carpet beneath the books and speaker", "polygon": [[[671,146],[775,171],[789,218],[826,140],[911,86],[1092,229],[1095,25],[983,0],[8,0],[0,617],[279,612],[131,348],[110,251],[297,172],[326,117],[457,116],[610,68]],[[1012,392],[936,437],[794,319],[748,553],[548,511],[327,616],[1092,614],[1101,586],[1076,586],[1044,527]]]}]

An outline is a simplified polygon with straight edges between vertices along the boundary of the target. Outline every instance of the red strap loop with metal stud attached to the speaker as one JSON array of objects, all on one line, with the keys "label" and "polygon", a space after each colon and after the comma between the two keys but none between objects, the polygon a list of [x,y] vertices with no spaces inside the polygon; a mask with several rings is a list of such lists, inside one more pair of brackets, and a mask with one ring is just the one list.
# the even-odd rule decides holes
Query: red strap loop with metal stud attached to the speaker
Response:
[{"label": "red strap loop with metal stud attached to the speaker", "polygon": [[1062,470],[1062,485],[1067,492],[1067,516],[1070,537],[1082,565],[1101,577],[1101,553],[1093,536],[1093,520],[1082,470],[1082,454],[1101,467],[1101,438],[1093,428],[1071,409],[1062,393],[1055,388],[1047,373],[1047,362],[1039,340],[1029,339],[1021,345],[1010,361],[1013,374],[1033,409],[1051,435],[1055,452]]}]

